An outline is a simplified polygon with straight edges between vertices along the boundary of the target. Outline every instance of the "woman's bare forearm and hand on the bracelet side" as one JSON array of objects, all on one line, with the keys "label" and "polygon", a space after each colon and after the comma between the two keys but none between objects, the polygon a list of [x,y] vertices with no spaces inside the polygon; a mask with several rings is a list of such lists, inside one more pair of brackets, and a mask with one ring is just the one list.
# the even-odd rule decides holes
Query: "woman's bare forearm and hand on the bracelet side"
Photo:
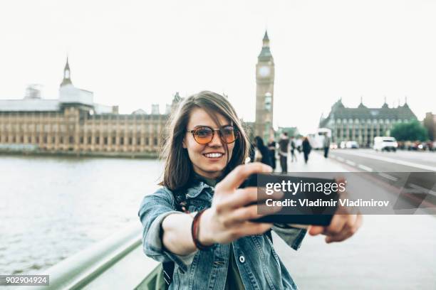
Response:
[{"label": "woman's bare forearm and hand on the bracelet side", "polygon": [[[202,245],[228,243],[246,235],[258,235],[272,226],[270,223],[251,222],[263,215],[257,214],[257,188],[238,189],[253,173],[271,172],[271,167],[262,163],[249,163],[235,168],[217,183],[212,206],[199,219],[198,239]],[[280,208],[269,208],[271,213]],[[265,215],[271,214],[266,211]],[[188,214],[167,215],[162,222],[163,245],[175,254],[187,255],[196,251],[191,235],[193,216]]]}]

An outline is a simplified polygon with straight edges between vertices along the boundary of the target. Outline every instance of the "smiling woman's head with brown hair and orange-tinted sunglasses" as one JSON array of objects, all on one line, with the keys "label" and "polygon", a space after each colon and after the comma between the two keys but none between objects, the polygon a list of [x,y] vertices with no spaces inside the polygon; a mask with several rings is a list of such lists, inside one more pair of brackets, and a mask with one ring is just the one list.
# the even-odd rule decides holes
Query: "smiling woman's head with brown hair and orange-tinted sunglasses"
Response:
[{"label": "smiling woman's head with brown hair and orange-tinted sunglasses", "polygon": [[160,184],[171,190],[184,188],[192,171],[217,178],[248,156],[249,141],[234,108],[227,98],[213,92],[200,92],[181,102],[168,129]]}]

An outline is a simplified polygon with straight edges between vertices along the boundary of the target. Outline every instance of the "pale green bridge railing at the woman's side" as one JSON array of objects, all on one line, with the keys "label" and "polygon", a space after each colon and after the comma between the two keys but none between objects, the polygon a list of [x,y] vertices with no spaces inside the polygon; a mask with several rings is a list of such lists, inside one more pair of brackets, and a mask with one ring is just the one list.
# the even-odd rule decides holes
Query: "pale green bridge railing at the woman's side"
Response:
[{"label": "pale green bridge railing at the woman's side", "polygon": [[164,289],[162,266],[145,257],[135,222],[39,274],[49,286],[35,289]]}]

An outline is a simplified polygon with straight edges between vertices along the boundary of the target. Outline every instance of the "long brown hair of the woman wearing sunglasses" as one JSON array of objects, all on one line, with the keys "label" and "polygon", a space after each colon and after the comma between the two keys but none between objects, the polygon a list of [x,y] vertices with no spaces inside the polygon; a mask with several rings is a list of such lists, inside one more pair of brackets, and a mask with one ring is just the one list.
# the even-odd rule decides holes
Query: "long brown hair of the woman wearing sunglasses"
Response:
[{"label": "long brown hair of the woman wearing sunglasses", "polygon": [[187,97],[180,102],[179,106],[172,113],[167,126],[167,138],[160,154],[161,159],[165,159],[165,169],[162,181],[159,183],[170,190],[185,188],[192,174],[192,162],[187,150],[183,148],[182,142],[187,133],[187,124],[190,120],[192,109],[204,109],[219,127],[220,124],[217,114],[221,114],[231,124],[237,128],[237,137],[232,158],[229,161],[229,148],[223,141],[227,152],[227,166],[224,168],[224,175],[232,171],[239,164],[244,163],[249,154],[249,140],[246,136],[242,123],[237,117],[229,100],[215,92],[203,91]]}]

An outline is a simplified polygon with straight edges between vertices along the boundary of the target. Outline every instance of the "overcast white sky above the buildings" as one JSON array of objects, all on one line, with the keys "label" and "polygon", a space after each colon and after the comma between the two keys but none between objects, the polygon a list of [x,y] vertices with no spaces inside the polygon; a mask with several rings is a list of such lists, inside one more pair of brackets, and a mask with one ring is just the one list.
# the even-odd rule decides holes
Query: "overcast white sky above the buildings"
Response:
[{"label": "overcast white sky above the buildings", "polygon": [[73,84],[122,113],[213,90],[251,121],[265,28],[276,126],[313,131],[339,97],[380,107],[407,95],[419,119],[436,112],[430,0],[1,1],[0,98],[29,83],[56,98],[69,53]]}]

